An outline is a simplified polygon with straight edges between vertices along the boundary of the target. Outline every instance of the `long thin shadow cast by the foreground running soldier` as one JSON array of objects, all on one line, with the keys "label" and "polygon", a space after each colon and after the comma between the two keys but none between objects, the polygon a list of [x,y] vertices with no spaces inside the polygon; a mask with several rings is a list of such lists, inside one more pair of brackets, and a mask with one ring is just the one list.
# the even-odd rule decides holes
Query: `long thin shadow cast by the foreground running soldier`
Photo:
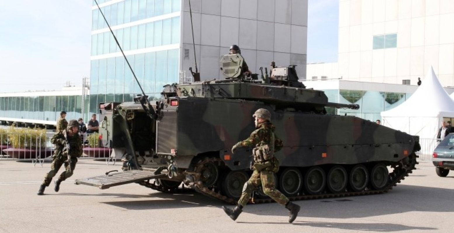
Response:
[{"label": "long thin shadow cast by the foreground running soldier", "polygon": [[[249,223],[250,222],[237,222],[237,223]],[[252,223],[252,224],[289,224],[289,223]],[[395,223],[333,223],[333,222],[307,222],[307,221],[296,221],[292,225],[297,226],[308,226],[314,228],[336,228],[346,229],[353,231],[376,231],[376,232],[393,232],[393,231],[407,231],[407,230],[437,230],[438,228],[427,228],[427,227],[416,227],[416,226],[405,226],[402,224]]]}]

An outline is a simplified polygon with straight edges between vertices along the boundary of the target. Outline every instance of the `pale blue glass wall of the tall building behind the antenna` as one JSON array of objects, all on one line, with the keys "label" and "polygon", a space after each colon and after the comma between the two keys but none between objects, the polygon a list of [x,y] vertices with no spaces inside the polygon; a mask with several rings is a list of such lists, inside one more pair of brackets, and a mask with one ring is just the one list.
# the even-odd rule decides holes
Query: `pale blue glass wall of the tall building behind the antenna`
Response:
[{"label": "pale blue glass wall of the tall building behind the antenna", "polygon": [[[109,4],[110,1],[98,1],[99,4],[102,2]],[[181,0],[124,0],[105,5],[101,10],[114,27],[114,34],[123,51],[135,50],[126,57],[143,91],[150,98],[160,97],[163,85],[178,82],[179,49],[149,48],[180,43],[181,18],[175,16],[177,14],[168,14],[181,11]],[[92,16],[92,30],[102,30],[92,35],[91,55],[104,55],[91,61],[89,112],[97,113],[99,102],[132,101],[141,90],[128,63],[118,54],[120,49],[114,37],[105,30],[107,24],[99,9],[94,9]],[[156,16],[160,17],[149,19]],[[138,20],[143,21],[133,23]],[[142,52],[139,49],[145,50]]]}]

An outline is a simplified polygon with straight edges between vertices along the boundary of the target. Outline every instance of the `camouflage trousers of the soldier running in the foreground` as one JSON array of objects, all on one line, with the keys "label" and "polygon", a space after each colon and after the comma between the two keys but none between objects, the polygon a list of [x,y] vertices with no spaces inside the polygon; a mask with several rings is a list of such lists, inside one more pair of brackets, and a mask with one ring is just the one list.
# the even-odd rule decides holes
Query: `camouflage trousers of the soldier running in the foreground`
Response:
[{"label": "camouflage trousers of the soldier running in the foreground", "polygon": [[276,181],[274,180],[274,172],[272,171],[266,169],[261,171],[254,170],[254,172],[251,175],[251,178],[249,178],[247,183],[248,186],[252,185],[253,188],[252,189],[247,187],[243,188],[241,197],[238,200],[238,205],[242,205],[244,207],[249,201],[252,191],[254,189],[257,190],[257,188],[261,184],[263,192],[269,197],[271,197],[273,200],[275,200],[277,203],[285,205],[289,202],[289,199],[274,187],[276,185]]}]

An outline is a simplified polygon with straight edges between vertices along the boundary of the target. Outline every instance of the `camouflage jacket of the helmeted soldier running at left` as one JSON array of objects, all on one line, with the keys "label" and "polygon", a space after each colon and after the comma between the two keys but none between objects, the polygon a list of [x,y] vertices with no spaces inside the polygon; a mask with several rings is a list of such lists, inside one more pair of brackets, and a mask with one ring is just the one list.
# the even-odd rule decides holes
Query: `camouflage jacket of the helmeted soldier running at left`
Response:
[{"label": "camouflage jacket of the helmeted soldier running at left", "polygon": [[[59,131],[50,139],[50,142],[55,144],[55,155],[61,153],[63,156],[80,157],[82,155],[82,139],[79,134],[76,133],[72,136],[68,134],[68,138],[66,139],[64,132]],[[65,148],[66,140],[69,142],[69,148]]]}]

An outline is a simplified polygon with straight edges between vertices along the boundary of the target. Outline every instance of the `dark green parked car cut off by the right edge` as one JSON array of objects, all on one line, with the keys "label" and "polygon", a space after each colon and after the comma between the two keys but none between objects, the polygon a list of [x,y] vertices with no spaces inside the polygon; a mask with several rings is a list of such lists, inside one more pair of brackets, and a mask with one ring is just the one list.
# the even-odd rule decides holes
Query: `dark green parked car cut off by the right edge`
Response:
[{"label": "dark green parked car cut off by the right edge", "polygon": [[454,170],[454,133],[447,135],[434,150],[432,162],[438,176],[446,177]]}]

